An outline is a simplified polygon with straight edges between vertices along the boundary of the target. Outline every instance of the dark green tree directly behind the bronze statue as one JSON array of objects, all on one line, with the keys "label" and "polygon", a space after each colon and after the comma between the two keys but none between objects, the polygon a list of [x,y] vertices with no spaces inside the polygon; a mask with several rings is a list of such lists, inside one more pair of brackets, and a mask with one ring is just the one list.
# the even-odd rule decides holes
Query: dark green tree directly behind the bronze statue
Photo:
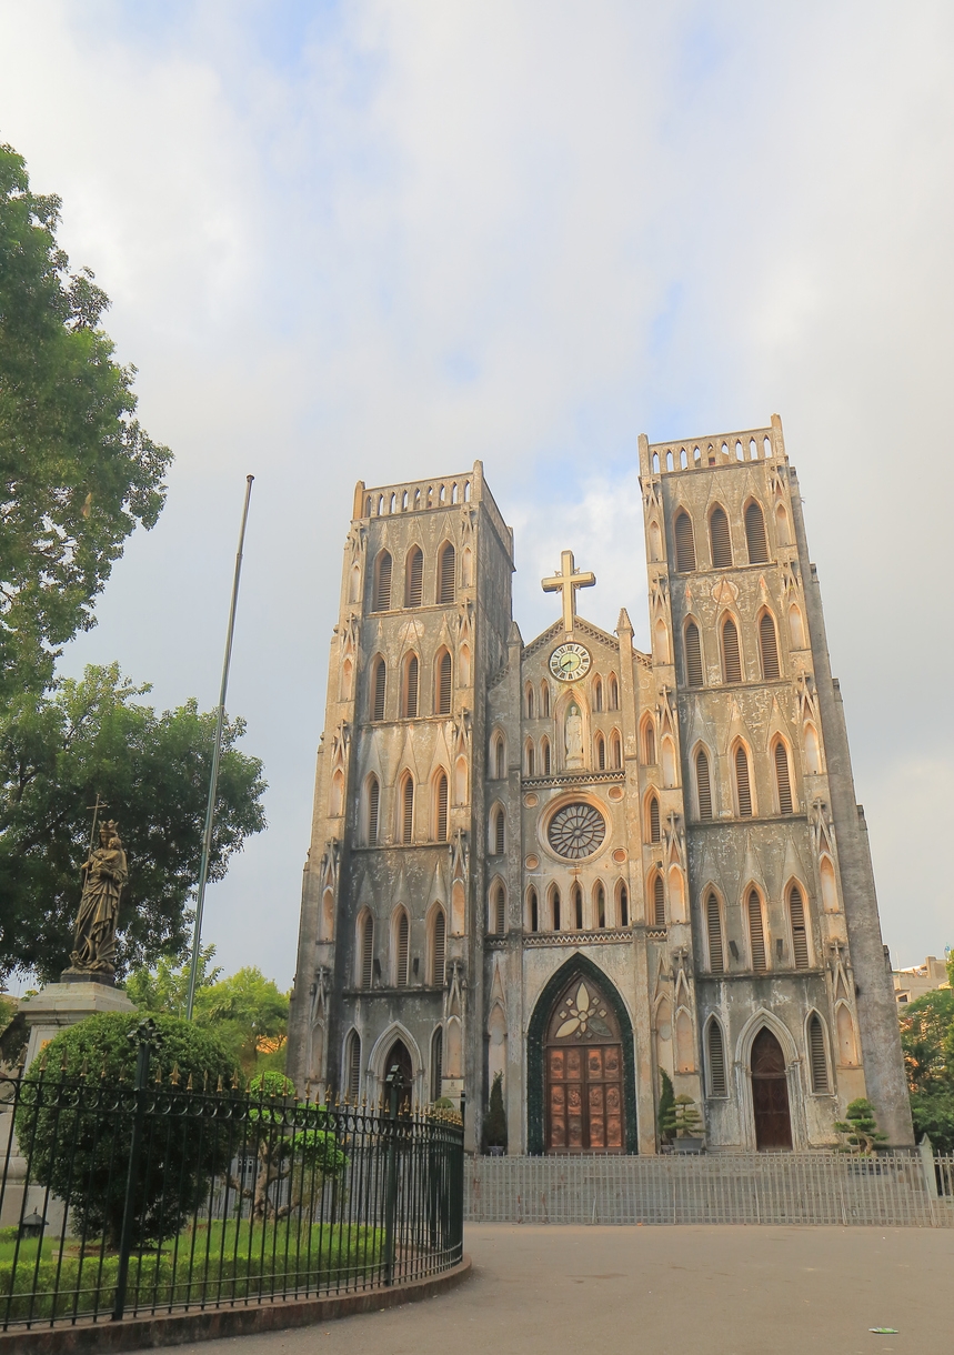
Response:
[{"label": "dark green tree directly behind the bronze statue", "polygon": [[[215,715],[195,701],[157,714],[136,699],[148,691],[117,664],[89,667],[0,711],[0,977],[35,970],[50,980],[65,967],[96,791],[129,856],[118,973],[184,951]],[[262,763],[236,747],[244,728],[225,725],[211,881],[266,824]]]}]

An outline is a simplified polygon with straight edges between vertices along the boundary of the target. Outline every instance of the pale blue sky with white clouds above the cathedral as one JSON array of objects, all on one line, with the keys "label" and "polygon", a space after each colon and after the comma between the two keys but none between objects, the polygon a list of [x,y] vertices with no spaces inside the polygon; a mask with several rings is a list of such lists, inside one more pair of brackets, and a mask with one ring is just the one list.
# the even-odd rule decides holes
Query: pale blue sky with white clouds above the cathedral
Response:
[{"label": "pale blue sky with white clouds above the cathedral", "polygon": [[954,8],[0,0],[0,140],[62,196],[176,461],[61,669],[229,707],[270,828],[210,888],[294,972],[358,478],[476,458],[515,615],[561,549],[646,648],[637,438],[782,416],[896,965],[954,943]]}]

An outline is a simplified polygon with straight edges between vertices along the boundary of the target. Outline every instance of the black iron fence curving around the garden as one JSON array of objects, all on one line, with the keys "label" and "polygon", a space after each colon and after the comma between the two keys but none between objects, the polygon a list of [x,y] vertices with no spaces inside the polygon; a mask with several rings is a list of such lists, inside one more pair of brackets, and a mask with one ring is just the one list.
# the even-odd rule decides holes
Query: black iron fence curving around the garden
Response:
[{"label": "black iron fence curving around the garden", "polygon": [[463,1253],[451,1112],[0,1077],[0,1331],[404,1283]]}]

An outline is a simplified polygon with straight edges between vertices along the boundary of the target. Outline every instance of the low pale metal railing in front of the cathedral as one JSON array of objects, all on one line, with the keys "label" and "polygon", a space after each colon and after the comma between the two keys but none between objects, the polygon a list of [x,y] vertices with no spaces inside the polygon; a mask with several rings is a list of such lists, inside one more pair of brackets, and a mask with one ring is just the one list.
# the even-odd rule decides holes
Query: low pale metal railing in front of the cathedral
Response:
[{"label": "low pale metal railing in front of the cathedral", "polygon": [[954,1195],[945,1192],[953,1188],[954,1157],[916,1153],[473,1157],[465,1217],[488,1224],[954,1228]]}]

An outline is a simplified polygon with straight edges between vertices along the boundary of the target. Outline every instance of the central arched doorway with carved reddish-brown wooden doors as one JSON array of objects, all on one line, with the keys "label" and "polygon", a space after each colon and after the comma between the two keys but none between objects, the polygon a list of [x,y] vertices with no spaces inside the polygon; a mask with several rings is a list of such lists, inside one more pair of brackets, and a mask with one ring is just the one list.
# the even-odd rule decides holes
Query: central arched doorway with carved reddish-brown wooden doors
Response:
[{"label": "central arched doorway with carved reddish-brown wooden doors", "polygon": [[613,1004],[576,974],[553,1004],[545,1037],[547,1153],[623,1153],[623,1047]]}]

